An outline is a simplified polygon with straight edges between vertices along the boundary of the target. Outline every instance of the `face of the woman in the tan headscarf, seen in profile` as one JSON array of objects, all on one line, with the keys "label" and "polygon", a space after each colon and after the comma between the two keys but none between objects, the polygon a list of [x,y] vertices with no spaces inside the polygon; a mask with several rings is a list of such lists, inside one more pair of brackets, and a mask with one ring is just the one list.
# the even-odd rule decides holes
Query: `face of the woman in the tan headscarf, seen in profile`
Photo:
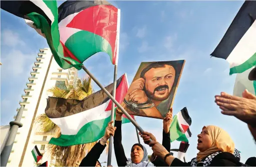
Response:
[{"label": "face of the woman in the tan headscarf, seen in profile", "polygon": [[197,150],[204,152],[212,146],[212,140],[206,128],[198,136]]}]

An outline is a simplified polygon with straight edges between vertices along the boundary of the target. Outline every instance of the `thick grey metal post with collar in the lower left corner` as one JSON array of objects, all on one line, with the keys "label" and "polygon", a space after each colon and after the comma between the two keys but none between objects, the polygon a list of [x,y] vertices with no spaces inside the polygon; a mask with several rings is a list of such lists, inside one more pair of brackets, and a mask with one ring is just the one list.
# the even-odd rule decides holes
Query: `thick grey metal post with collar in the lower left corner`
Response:
[{"label": "thick grey metal post with collar in the lower left corner", "polygon": [[1,167],[6,167],[9,156],[10,156],[10,152],[11,152],[11,149],[12,149],[17,131],[18,131],[18,128],[23,126],[23,124],[20,122],[22,114],[23,114],[23,109],[24,109],[24,106],[21,105],[18,110],[15,120],[11,121],[9,123],[10,130],[9,130],[8,138],[6,140],[6,144],[2,150],[1,157],[0,157],[1,158],[1,161],[0,161]]}]

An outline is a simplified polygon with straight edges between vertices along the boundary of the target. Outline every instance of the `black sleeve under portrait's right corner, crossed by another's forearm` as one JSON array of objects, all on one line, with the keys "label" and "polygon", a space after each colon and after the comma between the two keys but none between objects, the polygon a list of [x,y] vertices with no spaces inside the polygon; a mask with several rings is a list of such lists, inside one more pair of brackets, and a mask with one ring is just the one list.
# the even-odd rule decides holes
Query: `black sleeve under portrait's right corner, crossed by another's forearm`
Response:
[{"label": "black sleeve under portrait's right corner, crossed by another's forearm", "polygon": [[[162,145],[165,147],[165,149],[170,153],[171,151],[171,139],[170,139],[170,133],[165,133],[163,130],[163,141]],[[153,162],[152,162],[156,167],[168,167],[168,164],[164,162],[161,158],[157,157]]]}]

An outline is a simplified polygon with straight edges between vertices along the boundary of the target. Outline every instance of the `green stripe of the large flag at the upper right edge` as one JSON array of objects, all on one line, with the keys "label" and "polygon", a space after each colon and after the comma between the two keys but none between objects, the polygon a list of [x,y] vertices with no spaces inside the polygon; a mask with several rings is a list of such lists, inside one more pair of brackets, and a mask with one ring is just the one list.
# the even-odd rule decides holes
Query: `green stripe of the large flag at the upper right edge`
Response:
[{"label": "green stripe of the large flag at the upper right edge", "polygon": [[230,69],[230,75],[245,72],[246,70],[252,68],[255,65],[256,65],[256,53],[243,64],[232,67]]}]

